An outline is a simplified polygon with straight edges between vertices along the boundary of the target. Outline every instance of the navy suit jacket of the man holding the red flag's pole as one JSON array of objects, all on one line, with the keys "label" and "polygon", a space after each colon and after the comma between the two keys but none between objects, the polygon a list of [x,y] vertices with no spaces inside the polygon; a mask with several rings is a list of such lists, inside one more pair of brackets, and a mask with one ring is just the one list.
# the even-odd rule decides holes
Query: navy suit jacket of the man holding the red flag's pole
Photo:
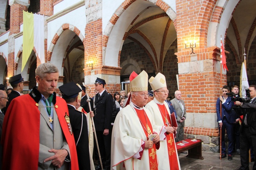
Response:
[{"label": "navy suit jacket of the man holding the red flag's pole", "polygon": [[234,106],[234,102],[231,101],[231,97],[228,97],[226,102],[222,104],[222,117],[220,102],[221,100],[218,98],[216,103],[217,122],[223,120],[225,115],[229,123],[234,123],[236,121],[236,115],[231,110],[231,108]]}]

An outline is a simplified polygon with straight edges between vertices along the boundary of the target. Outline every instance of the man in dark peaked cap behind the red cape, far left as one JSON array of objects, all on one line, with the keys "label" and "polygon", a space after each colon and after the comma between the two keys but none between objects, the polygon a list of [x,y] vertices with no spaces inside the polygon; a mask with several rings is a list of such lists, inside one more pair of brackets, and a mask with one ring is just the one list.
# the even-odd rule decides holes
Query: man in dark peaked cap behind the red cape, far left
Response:
[{"label": "man in dark peaked cap behind the red cape, far left", "polygon": [[9,79],[9,83],[11,84],[11,86],[13,87],[13,90],[11,91],[11,93],[8,95],[9,100],[6,104],[6,107],[3,109],[3,114],[6,113],[11,101],[20,96],[20,93],[23,91],[23,87],[24,87],[24,79],[22,78],[21,74],[17,74],[14,75],[13,77],[10,77]]}]

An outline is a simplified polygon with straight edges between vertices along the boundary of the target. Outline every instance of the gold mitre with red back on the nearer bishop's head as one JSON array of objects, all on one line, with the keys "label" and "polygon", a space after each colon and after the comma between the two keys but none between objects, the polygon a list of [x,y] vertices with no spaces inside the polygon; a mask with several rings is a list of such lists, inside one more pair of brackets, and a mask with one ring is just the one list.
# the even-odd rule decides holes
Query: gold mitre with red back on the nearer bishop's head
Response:
[{"label": "gold mitre with red back on the nearer bishop's head", "polygon": [[147,91],[148,75],[146,71],[143,70],[139,75],[133,71],[129,79],[131,91]]}]

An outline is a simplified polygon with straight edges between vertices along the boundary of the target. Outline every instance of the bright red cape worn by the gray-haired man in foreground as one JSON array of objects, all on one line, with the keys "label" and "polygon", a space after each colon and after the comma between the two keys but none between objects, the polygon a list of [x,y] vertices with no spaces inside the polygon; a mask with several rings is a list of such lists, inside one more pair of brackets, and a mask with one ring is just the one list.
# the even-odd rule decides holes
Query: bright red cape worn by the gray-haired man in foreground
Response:
[{"label": "bright red cape worn by the gray-haired man in foreground", "polygon": [[[5,114],[1,144],[3,146],[3,167],[8,170],[38,169],[40,112],[36,102],[23,95],[13,99]],[[68,113],[66,102],[56,98],[55,108],[61,129],[70,149],[71,169],[77,170],[78,161],[73,134],[71,135],[65,120]]]}]

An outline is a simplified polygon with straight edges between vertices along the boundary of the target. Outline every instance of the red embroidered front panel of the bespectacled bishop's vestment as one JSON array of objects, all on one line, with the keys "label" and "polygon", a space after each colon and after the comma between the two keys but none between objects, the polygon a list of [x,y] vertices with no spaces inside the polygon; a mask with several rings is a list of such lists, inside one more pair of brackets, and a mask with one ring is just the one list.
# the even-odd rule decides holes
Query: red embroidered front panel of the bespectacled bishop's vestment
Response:
[{"label": "red embroidered front panel of the bespectacled bishop's vestment", "polygon": [[[168,114],[168,111],[165,107],[165,105],[160,105],[160,104],[157,104],[158,107],[160,108],[160,113],[161,113],[161,116],[162,116],[162,119],[163,119],[163,123],[166,125],[166,126],[172,126],[171,124],[168,125],[166,123],[166,118],[168,120],[169,123],[171,123],[171,118]],[[167,115],[167,116],[166,116]],[[166,142],[167,142],[167,147],[168,147],[168,155],[169,155],[169,163],[170,163],[170,169],[171,170],[179,170],[179,163],[178,163],[178,160],[177,160],[177,156],[176,156],[176,148],[175,148],[175,140],[174,140],[174,136],[173,136],[173,133],[169,133],[168,135],[166,135]]]}]

